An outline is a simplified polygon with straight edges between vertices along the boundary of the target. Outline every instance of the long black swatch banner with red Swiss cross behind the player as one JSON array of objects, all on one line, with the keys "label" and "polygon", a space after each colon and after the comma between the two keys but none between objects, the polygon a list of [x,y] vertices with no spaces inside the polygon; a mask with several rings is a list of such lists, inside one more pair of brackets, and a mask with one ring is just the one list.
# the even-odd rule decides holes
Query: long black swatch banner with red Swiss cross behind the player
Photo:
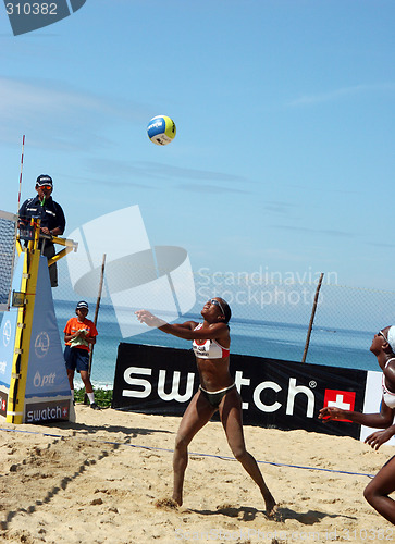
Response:
[{"label": "long black swatch banner with red Swiss cross behind the player", "polygon": [[[231,374],[242,395],[245,423],[359,438],[360,425],[323,423],[318,412],[323,406],[362,411],[366,371],[232,355]],[[192,349],[119,345],[113,408],[182,416],[198,385]]]}]

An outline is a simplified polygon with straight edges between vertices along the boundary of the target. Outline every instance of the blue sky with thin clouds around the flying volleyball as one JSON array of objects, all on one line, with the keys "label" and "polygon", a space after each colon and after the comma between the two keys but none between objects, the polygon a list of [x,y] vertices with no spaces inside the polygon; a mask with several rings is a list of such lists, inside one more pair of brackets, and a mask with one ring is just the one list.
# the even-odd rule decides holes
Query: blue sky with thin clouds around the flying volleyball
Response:
[{"label": "blue sky with thin clouds around the flying volleyball", "polygon": [[22,199],[50,174],[65,235],[139,205],[196,271],[393,290],[392,0],[87,0],[17,37],[1,10],[1,209],[25,134]]}]

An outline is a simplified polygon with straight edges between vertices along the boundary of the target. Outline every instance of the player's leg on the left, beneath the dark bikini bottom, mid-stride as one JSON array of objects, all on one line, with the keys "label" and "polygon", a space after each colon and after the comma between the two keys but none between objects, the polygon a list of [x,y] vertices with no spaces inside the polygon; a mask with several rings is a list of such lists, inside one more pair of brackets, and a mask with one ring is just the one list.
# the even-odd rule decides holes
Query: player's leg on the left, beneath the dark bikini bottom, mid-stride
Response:
[{"label": "player's leg on the left, beneath the dark bikini bottom, mid-stride", "polygon": [[188,445],[195,434],[202,429],[217,411],[201,395],[200,390],[195,394],[181,420],[175,438],[173,455],[173,500],[183,504],[183,486],[185,470],[188,465]]}]

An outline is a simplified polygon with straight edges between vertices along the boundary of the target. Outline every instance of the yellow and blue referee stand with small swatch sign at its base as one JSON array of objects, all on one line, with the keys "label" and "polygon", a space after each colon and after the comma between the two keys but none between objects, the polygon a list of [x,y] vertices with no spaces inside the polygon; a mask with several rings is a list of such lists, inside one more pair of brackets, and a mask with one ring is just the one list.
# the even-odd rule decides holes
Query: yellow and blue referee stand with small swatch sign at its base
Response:
[{"label": "yellow and blue referee stand with small swatch sign at its base", "polygon": [[[63,246],[50,260],[41,255],[46,238]],[[48,268],[76,251],[77,244],[42,236],[40,221],[35,219],[16,236],[15,244],[18,260],[1,323],[0,416],[15,424],[72,420],[74,408]]]}]

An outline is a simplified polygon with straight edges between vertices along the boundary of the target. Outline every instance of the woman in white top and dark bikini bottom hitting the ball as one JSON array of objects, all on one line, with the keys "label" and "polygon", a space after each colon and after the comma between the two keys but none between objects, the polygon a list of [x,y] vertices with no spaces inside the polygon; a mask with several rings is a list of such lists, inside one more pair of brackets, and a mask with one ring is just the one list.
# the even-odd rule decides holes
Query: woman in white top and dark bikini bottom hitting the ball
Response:
[{"label": "woman in white top and dark bikini bottom hitting the ball", "polygon": [[188,463],[188,444],[218,410],[227,443],[235,458],[259,486],[267,514],[273,515],[275,500],[270,493],[257,461],[246,450],[242,422],[242,399],[229,371],[231,308],[222,298],[208,300],[202,310],[202,323],[186,321],[169,324],[146,310],[136,311],[141,323],[157,326],[164,333],[193,341],[200,386],[187,407],[175,440],[173,499],[183,504],[183,484]]}]

